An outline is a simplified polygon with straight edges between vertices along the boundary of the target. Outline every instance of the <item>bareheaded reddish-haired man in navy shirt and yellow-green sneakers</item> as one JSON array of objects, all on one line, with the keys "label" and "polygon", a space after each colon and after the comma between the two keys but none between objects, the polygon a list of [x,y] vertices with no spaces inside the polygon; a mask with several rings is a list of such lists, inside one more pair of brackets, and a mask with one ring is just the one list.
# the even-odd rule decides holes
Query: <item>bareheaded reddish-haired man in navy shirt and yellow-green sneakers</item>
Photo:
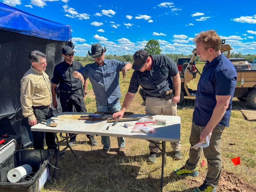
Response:
[{"label": "bareheaded reddish-haired man in navy shirt and yellow-green sneakers", "polygon": [[[236,69],[220,52],[220,37],[214,30],[202,31],[195,38],[197,55],[206,61],[196,92],[196,107],[193,113],[189,138],[191,147],[210,138],[209,147],[203,148],[208,163],[204,183],[193,192],[214,192],[220,180],[221,134],[229,126],[231,102],[236,87]],[[202,148],[190,147],[189,158],[176,175],[197,176],[196,166]]]}]

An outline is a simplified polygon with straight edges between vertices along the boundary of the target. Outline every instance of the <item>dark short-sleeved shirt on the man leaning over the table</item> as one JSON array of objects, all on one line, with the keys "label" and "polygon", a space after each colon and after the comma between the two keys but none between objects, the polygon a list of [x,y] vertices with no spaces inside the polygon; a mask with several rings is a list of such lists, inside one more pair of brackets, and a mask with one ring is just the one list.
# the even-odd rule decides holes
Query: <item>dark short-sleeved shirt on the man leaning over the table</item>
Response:
[{"label": "dark short-sleeved shirt on the man leaning over the table", "polygon": [[172,78],[179,72],[176,63],[166,55],[151,55],[154,63],[150,71],[134,71],[128,92],[136,93],[139,85],[149,97],[161,97],[172,89]]}]

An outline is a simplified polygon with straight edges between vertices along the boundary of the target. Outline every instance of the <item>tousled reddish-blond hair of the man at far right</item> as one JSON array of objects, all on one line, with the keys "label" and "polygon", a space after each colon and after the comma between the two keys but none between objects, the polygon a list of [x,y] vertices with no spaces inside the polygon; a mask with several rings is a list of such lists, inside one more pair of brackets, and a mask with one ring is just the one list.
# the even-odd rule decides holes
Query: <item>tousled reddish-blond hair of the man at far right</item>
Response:
[{"label": "tousled reddish-blond hair of the man at far right", "polygon": [[212,47],[214,51],[220,50],[220,36],[214,30],[201,31],[194,38],[194,42],[202,42],[205,51]]}]

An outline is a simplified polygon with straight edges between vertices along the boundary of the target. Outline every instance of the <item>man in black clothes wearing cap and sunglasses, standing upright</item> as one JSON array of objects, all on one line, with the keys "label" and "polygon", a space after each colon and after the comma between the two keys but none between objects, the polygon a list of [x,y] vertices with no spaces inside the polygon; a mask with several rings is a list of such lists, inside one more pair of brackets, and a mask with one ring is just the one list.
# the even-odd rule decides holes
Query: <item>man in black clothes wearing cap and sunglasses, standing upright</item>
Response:
[{"label": "man in black clothes wearing cap and sunglasses, standing upright", "polygon": [[[72,73],[76,69],[83,68],[83,64],[74,60],[73,49],[70,46],[65,46],[62,48],[62,56],[64,61],[59,63],[54,67],[53,77],[52,77],[52,97],[53,97],[53,107],[58,107],[56,101],[56,92],[55,87],[59,84],[60,90],[60,104],[62,112],[72,112],[73,106],[76,109],[76,112],[86,113],[86,107],[84,104],[84,97],[87,91],[88,81],[87,78],[84,80],[85,85],[82,90],[82,83],[79,79],[76,79],[72,76]],[[76,135],[72,136],[72,133],[69,133],[71,136],[69,140],[69,145],[74,145],[76,141]],[[97,145],[97,141],[94,139],[93,135],[86,135],[90,140],[92,146]]]}]

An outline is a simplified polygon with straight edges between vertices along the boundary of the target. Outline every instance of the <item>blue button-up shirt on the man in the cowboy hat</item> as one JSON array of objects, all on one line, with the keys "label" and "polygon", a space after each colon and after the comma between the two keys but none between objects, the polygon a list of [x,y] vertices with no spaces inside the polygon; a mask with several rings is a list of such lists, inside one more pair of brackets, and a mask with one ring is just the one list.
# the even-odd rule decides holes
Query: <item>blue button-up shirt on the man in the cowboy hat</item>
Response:
[{"label": "blue button-up shirt on the man in the cowboy hat", "polygon": [[81,73],[84,78],[89,78],[96,102],[108,104],[121,98],[119,72],[126,63],[128,62],[105,59],[102,66],[94,62],[76,71]]}]

